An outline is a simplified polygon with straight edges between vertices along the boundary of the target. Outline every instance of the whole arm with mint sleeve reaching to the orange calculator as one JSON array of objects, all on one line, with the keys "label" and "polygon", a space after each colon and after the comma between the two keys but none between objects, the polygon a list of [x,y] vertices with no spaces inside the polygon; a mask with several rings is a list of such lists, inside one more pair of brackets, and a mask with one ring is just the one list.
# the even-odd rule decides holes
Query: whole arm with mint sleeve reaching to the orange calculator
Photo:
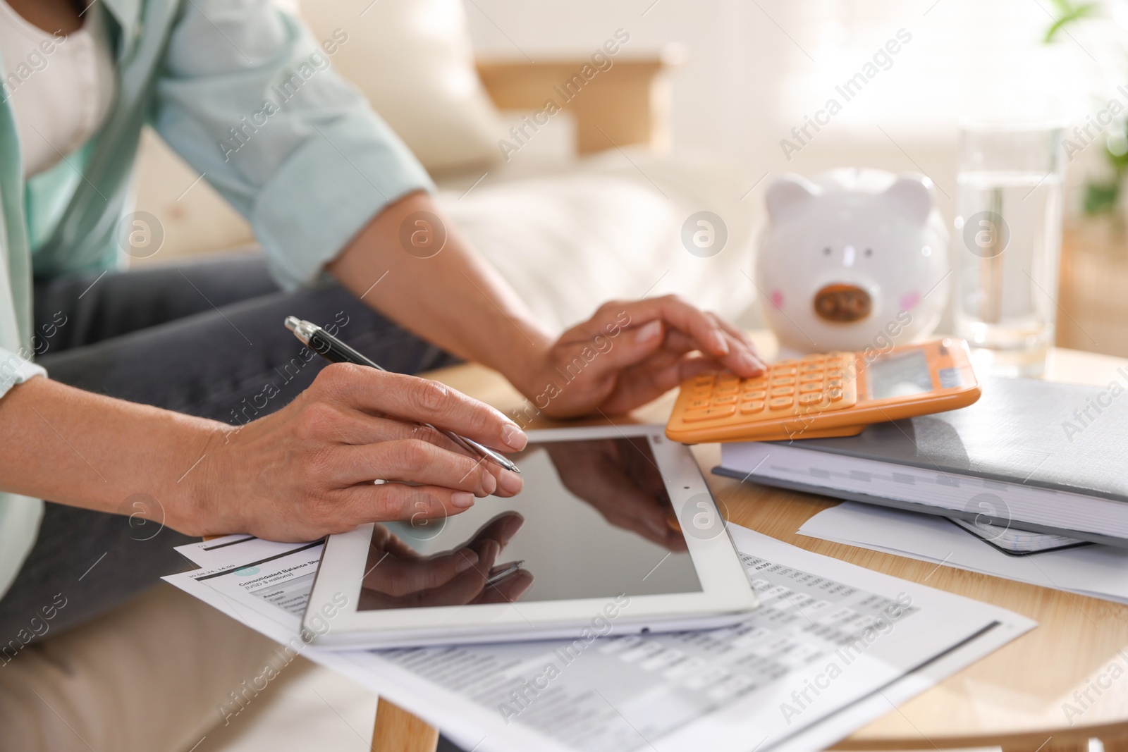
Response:
[{"label": "whole arm with mint sleeve reaching to the orange calculator", "polygon": [[[685,301],[609,303],[553,342],[449,222],[441,251],[408,253],[404,221],[440,214],[432,184],[329,67],[344,44],[363,42],[337,29],[318,44],[299,19],[256,0],[194,0],[169,37],[155,124],[247,215],[280,280],[301,284],[328,267],[380,312],[500,370],[555,416],[631,409],[705,369],[760,372],[742,333]],[[309,74],[294,80],[297,70]],[[294,81],[296,94],[255,109],[279,81]],[[405,235],[418,229],[408,222]]]}]

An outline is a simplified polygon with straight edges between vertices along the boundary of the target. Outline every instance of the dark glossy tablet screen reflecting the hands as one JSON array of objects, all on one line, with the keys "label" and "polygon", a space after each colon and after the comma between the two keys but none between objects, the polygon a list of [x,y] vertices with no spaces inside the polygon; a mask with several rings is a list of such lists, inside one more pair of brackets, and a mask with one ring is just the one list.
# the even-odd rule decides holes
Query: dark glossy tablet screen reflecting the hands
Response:
[{"label": "dark glossy tablet screen reflecting the hands", "polygon": [[358,610],[702,592],[646,436],[530,443],[512,459],[525,479],[512,498],[374,525]]}]

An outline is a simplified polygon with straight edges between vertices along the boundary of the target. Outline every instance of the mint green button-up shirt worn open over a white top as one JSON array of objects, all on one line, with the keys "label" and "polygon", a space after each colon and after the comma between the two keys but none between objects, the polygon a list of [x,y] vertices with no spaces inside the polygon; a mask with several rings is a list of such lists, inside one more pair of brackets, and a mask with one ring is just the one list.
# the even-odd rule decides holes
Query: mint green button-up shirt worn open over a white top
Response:
[{"label": "mint green button-up shirt worn open over a white top", "polygon": [[[385,205],[433,189],[411,151],[328,68],[350,43],[347,29],[314,39],[271,0],[99,5],[113,29],[118,90],[90,142],[25,182],[0,95],[0,398],[44,374],[34,363],[33,274],[121,267],[117,225],[131,210],[146,123],[247,218],[287,289],[318,276]],[[39,499],[0,493],[0,596],[42,515]]]}]

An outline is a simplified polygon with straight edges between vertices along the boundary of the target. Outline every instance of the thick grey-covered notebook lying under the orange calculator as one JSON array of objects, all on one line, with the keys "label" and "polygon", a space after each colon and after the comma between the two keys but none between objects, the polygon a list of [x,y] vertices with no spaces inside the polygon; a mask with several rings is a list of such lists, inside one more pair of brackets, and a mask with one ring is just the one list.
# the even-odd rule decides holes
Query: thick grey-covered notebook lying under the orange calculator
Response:
[{"label": "thick grey-covered notebook lying under the orange calculator", "polygon": [[1128,547],[1125,384],[987,379],[975,405],[856,436],[724,444],[714,472]]}]

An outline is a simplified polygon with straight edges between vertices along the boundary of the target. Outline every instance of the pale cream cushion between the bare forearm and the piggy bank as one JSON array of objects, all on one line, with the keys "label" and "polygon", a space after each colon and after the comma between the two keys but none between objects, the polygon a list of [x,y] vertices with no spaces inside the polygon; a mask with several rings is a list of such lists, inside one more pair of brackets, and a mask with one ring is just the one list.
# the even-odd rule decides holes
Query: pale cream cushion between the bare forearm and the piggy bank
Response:
[{"label": "pale cream cushion between the bare forearm and the piggy bank", "polygon": [[[629,160],[605,152],[537,177],[491,172],[469,192],[441,192],[439,204],[556,330],[607,300],[667,293],[756,326],[756,287],[746,276],[751,211],[740,201],[747,186],[715,165],[628,153]],[[713,256],[695,255],[682,241],[684,225],[699,211],[722,218],[728,230]]]}]

